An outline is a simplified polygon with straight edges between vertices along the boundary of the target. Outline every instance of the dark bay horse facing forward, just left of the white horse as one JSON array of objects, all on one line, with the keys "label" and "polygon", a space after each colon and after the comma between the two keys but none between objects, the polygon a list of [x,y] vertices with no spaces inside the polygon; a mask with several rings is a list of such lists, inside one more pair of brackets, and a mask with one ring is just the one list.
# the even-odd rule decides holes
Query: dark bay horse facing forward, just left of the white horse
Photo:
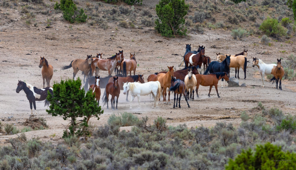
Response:
[{"label": "dark bay horse facing forward, just left of the white horse", "polygon": [[[120,88],[117,81],[118,77],[113,77],[113,82],[110,82],[106,85],[106,96],[105,98],[102,98],[103,100],[103,106],[107,103],[107,109],[108,107],[108,101],[109,101],[109,94],[111,94],[111,109],[115,110],[115,97],[116,97],[116,110],[117,109],[117,103],[118,103],[118,97],[120,94]],[[113,103],[112,103],[113,102]]]}]

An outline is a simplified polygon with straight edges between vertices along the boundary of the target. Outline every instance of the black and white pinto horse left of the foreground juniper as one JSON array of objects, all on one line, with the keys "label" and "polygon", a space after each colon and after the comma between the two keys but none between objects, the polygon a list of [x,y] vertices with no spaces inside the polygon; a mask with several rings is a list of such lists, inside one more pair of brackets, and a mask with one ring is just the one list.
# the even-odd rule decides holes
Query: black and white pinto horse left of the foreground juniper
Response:
[{"label": "black and white pinto horse left of the foreground juniper", "polygon": [[43,89],[38,89],[33,85],[30,85],[28,83],[22,82],[19,80],[19,82],[17,83],[17,93],[20,93],[21,90],[24,90],[24,92],[27,95],[27,98],[30,102],[30,108],[31,108],[31,115],[33,114],[32,111],[32,103],[34,106],[34,115],[36,115],[36,102],[35,101],[44,101],[44,106],[49,106],[49,101],[46,100],[47,97],[47,91],[49,90],[49,92],[53,95],[52,92],[52,88],[51,87],[46,87]]}]

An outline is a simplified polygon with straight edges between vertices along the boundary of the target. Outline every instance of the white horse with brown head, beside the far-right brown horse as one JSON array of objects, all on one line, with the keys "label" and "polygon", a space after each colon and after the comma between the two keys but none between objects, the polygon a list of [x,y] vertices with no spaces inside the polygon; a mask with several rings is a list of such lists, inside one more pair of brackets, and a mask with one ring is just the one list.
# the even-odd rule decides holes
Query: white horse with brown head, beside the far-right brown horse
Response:
[{"label": "white horse with brown head, beside the far-right brown horse", "polygon": [[[265,87],[264,85],[264,75],[271,75],[271,70],[274,66],[276,66],[276,64],[265,64],[261,59],[257,59],[256,57],[253,57],[253,65],[252,67],[257,66],[259,69],[259,73],[261,75],[262,78],[262,85],[261,87]],[[275,85],[274,85],[275,87]]]}]

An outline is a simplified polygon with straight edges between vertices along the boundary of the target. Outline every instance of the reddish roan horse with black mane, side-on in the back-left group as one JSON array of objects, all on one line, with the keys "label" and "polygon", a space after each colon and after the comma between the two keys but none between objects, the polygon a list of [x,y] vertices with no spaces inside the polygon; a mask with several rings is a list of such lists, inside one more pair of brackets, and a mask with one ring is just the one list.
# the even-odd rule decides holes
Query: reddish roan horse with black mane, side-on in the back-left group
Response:
[{"label": "reddish roan horse with black mane, side-on in the back-left group", "polygon": [[109,57],[107,59],[96,58],[91,63],[91,75],[96,71],[96,76],[99,75],[99,70],[108,70],[108,75],[111,76],[112,72],[116,67],[116,63],[121,62],[121,53],[116,53],[116,55]]}]

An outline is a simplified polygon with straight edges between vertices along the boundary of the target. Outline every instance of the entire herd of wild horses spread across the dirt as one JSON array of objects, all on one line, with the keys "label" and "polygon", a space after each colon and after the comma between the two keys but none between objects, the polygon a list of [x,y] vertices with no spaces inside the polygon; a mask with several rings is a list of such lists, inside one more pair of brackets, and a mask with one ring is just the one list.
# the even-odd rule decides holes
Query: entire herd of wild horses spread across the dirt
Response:
[{"label": "entire herd of wild horses spread across the dirt", "polygon": [[[181,70],[174,71],[174,66],[169,67],[168,71],[157,72],[155,74],[149,75],[145,83],[144,75],[136,75],[137,61],[135,54],[130,53],[129,59],[125,59],[123,56],[123,50],[116,53],[114,56],[107,59],[102,59],[102,54],[97,54],[96,57],[92,55],[87,55],[86,59],[75,59],[71,61],[70,65],[62,67],[62,69],[73,68],[73,79],[76,80],[76,74],[79,70],[83,72],[84,78],[83,82],[85,90],[92,90],[95,94],[96,101],[100,101],[101,88],[104,88],[104,95],[102,97],[103,106],[109,101],[109,94],[111,95],[111,108],[117,109],[118,98],[120,95],[120,90],[123,90],[123,94],[126,95],[126,101],[128,101],[128,94],[131,91],[131,102],[137,96],[138,103],[140,107],[140,96],[151,94],[154,98],[154,106],[157,106],[157,100],[160,101],[161,95],[163,95],[163,101],[166,102],[167,88],[169,88],[168,102],[170,102],[170,91],[174,93],[174,105],[175,107],[180,106],[181,96],[184,95],[185,101],[194,100],[194,89],[196,95],[198,96],[198,88],[202,86],[210,86],[208,96],[210,97],[210,92],[214,86],[218,97],[218,80],[222,80],[221,86],[223,87],[223,80],[225,79],[229,82],[230,68],[235,68],[235,77],[239,78],[239,69],[242,68],[244,71],[244,79],[246,79],[246,68],[247,68],[247,51],[245,50],[239,54],[235,55],[223,55],[216,53],[216,61],[212,61],[210,57],[205,56],[205,47],[199,46],[197,51],[191,51],[191,44],[186,44],[186,51],[179,64],[179,67],[185,63],[185,68]],[[204,65],[204,73],[201,73],[201,66]],[[281,59],[277,59],[277,64],[265,64],[261,59],[253,58],[252,67],[257,66],[262,78],[262,87],[264,85],[265,75],[274,75],[270,80],[276,81],[276,88],[281,88],[281,78],[284,75],[284,69],[281,66]],[[42,68],[43,67],[43,68]],[[27,98],[30,102],[31,114],[32,104],[36,113],[36,103],[35,101],[45,100],[45,106],[49,105],[46,100],[47,91],[49,90],[53,94],[53,89],[50,87],[50,80],[53,75],[53,67],[48,64],[48,61],[41,57],[39,68],[42,68],[42,78],[43,78],[43,89],[38,89],[33,85],[22,82],[19,80],[17,84],[16,92],[19,93],[20,90],[24,90]],[[198,71],[198,69],[200,71]],[[108,71],[107,77],[100,77],[99,71]],[[115,71],[116,75],[111,76],[112,72]],[[131,75],[133,71],[133,75]],[[95,72],[95,76],[92,76]],[[130,75],[128,76],[128,72]],[[121,74],[122,73],[122,74]],[[44,88],[45,81],[47,87]],[[140,83],[139,83],[140,82]],[[190,93],[190,95],[189,95]],[[177,98],[176,98],[177,95]],[[116,97],[116,98],[115,98]],[[116,106],[115,106],[116,99]],[[178,105],[179,101],[179,105]],[[130,103],[131,108],[131,103]]]}]

